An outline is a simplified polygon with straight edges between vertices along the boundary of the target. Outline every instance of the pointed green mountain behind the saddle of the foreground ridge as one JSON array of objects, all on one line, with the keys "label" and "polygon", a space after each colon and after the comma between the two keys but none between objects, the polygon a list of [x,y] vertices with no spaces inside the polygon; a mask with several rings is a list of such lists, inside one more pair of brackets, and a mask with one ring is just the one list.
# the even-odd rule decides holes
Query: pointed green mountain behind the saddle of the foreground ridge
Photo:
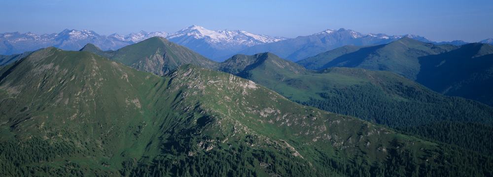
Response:
[{"label": "pointed green mountain behind the saddle of the foreground ridge", "polygon": [[207,68],[215,68],[217,65],[217,62],[170,42],[163,37],[151,37],[116,51],[103,52],[95,47],[90,44],[81,50],[92,52],[159,76],[169,73],[182,64],[192,63]]}]

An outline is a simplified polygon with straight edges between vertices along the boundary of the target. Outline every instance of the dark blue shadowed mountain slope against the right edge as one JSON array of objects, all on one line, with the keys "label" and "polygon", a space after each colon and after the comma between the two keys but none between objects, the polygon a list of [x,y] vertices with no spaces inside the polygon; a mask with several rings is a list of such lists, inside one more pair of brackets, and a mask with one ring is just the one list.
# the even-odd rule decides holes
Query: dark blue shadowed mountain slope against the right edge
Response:
[{"label": "dark blue shadowed mountain slope against the right edge", "polygon": [[436,56],[420,58],[416,82],[445,95],[493,105],[493,46],[471,43]]}]

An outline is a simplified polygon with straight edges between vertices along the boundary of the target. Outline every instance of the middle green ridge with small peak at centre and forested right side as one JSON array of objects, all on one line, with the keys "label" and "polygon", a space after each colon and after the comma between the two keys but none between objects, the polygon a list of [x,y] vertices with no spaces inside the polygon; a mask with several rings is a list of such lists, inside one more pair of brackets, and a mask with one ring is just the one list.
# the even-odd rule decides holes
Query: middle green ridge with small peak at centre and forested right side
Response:
[{"label": "middle green ridge with small peak at centre and forested right side", "polygon": [[[252,59],[257,58],[257,59]],[[241,61],[245,59],[247,61]],[[258,62],[249,62],[255,60]],[[250,79],[290,100],[334,113],[350,115],[387,126],[411,126],[440,120],[493,124],[493,109],[481,103],[443,96],[402,76],[359,68],[322,71],[286,70],[272,63],[296,63],[273,54],[237,55],[220,66],[225,72]],[[228,70],[251,63],[242,71]]]}]

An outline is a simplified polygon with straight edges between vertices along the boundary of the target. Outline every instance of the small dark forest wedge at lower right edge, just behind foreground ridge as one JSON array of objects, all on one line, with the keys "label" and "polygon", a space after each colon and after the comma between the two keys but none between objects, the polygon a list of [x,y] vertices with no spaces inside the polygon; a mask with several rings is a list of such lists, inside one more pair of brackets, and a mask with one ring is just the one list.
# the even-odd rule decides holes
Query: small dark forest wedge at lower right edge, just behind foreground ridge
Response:
[{"label": "small dark forest wedge at lower right edge, just behind foreground ridge", "polygon": [[482,154],[493,154],[493,127],[482,123],[438,121],[411,127],[397,127],[406,134],[436,140]]}]

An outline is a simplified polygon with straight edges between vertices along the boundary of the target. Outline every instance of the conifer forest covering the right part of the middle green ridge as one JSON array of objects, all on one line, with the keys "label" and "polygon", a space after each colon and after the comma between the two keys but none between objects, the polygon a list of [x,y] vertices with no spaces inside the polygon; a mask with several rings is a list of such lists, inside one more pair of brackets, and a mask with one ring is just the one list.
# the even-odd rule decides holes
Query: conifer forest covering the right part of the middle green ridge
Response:
[{"label": "conifer forest covering the right part of the middle green ridge", "polygon": [[[386,92],[398,95],[390,96]],[[492,107],[460,97],[443,96],[431,90],[428,92],[430,94],[423,94],[415,87],[393,87],[384,91],[375,85],[361,84],[345,89],[327,89],[318,93],[323,99],[296,102],[389,127],[443,120],[493,125]]]}]

